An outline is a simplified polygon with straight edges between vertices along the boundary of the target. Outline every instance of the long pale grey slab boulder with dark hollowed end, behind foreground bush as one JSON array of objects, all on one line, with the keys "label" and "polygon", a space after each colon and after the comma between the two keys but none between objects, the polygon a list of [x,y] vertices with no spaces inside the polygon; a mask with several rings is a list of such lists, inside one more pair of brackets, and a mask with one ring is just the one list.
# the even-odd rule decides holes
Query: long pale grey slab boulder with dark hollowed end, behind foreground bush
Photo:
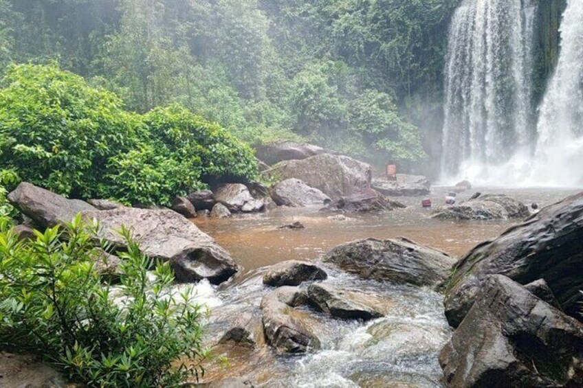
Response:
[{"label": "long pale grey slab boulder with dark hollowed end, behind foreground bush", "polygon": [[116,247],[126,244],[117,232],[122,225],[132,229],[146,255],[170,262],[178,282],[208,279],[212,284],[219,284],[239,270],[217,242],[172,210],[125,207],[85,214],[100,222],[100,237]]}]

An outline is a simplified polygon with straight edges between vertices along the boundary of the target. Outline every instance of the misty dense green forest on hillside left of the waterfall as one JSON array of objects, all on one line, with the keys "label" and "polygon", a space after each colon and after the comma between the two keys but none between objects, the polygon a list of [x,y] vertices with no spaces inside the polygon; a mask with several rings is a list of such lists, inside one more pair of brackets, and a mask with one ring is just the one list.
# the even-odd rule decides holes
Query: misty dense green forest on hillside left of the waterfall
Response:
[{"label": "misty dense green forest on hillside left of the waterfall", "polygon": [[301,138],[404,163],[441,130],[457,3],[0,0],[0,59],[57,60],[129,111],[179,103],[252,144]]}]

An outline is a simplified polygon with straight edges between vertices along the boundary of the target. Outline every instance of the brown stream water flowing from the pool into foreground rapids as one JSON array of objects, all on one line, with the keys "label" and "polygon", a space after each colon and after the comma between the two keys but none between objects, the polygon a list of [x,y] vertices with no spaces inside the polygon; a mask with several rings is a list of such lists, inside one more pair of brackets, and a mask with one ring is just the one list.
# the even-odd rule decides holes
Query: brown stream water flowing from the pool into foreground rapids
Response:
[{"label": "brown stream water flowing from the pool into foreground rapids", "polygon": [[[505,190],[525,203],[540,205],[549,205],[574,192]],[[440,204],[447,193],[448,187],[436,187],[430,198]],[[461,194],[459,199],[472,193]],[[261,319],[259,304],[269,292],[261,282],[267,265],[290,259],[319,262],[322,253],[331,247],[367,237],[404,236],[459,256],[478,242],[498,236],[515,222],[432,220],[429,212],[421,208],[421,198],[402,200],[410,206],[382,216],[349,216],[345,220],[329,218],[330,214],[318,209],[285,208],[226,220],[195,220],[245,267],[230,284],[218,288],[208,282],[197,285],[197,300],[208,304],[212,311],[206,343],[217,343],[240,315]],[[301,220],[306,229],[278,229],[294,220]],[[385,317],[369,323],[349,322],[300,309],[296,317],[318,335],[322,350],[303,356],[280,356],[265,346],[247,349],[221,345],[214,350],[227,356],[228,366],[208,365],[206,378],[244,376],[259,387],[442,387],[437,355],[451,332],[443,316],[441,295],[426,288],[367,281],[321,265],[329,274],[325,282],[358,292],[361,301]]]}]

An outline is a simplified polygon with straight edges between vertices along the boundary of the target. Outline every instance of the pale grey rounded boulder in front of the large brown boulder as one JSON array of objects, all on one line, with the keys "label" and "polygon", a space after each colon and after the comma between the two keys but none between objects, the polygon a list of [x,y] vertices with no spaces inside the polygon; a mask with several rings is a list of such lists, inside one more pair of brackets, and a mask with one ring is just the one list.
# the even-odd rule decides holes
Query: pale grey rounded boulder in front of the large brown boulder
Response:
[{"label": "pale grey rounded boulder in front of the large brown boulder", "polygon": [[278,206],[322,206],[331,201],[330,197],[320,190],[294,178],[277,183],[270,193]]}]

